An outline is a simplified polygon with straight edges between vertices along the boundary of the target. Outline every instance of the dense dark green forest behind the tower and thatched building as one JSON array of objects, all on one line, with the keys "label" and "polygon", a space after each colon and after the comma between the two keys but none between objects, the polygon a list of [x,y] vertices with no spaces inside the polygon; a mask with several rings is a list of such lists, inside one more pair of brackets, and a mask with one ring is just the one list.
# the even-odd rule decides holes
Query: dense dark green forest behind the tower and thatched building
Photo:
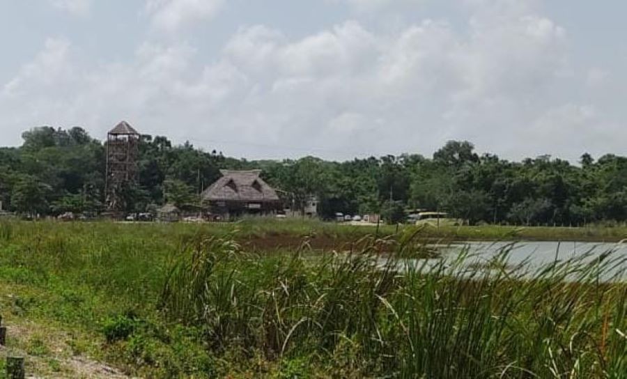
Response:
[{"label": "dense dark green forest behind the tower and thatched building", "polygon": [[[0,201],[22,215],[97,215],[104,202],[104,145],[81,127],[36,127],[19,148],[0,148]],[[627,220],[627,158],[588,154],[578,164],[550,155],[509,162],[479,155],[467,141],[449,141],[428,158],[419,154],[329,162],[316,157],[248,161],[206,152],[167,137],[141,137],[139,180],[127,189],[127,212],[166,202],[197,203],[219,169],[263,169],[291,201],[320,200],[320,215],[403,210],[449,212],[479,222],[585,224]]]}]

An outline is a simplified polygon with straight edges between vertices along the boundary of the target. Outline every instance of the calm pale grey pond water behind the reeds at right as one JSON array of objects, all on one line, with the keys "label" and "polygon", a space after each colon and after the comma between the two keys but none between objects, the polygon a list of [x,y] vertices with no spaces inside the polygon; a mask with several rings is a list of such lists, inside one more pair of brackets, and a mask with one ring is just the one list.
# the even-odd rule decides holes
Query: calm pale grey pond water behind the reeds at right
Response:
[{"label": "calm pale grey pond water behind the reeds at right", "polygon": [[610,253],[606,259],[608,267],[603,270],[603,280],[627,280],[627,243],[604,242],[463,242],[451,245],[432,245],[442,258],[439,259],[412,259],[398,262],[398,268],[403,270],[407,265],[438,265],[445,261],[452,261],[460,253],[468,256],[462,267],[470,265],[486,265],[493,261],[495,256],[509,252],[506,258],[506,267],[513,268],[524,265],[525,272],[532,275],[541,268],[555,261],[573,261],[589,263],[601,256]]}]

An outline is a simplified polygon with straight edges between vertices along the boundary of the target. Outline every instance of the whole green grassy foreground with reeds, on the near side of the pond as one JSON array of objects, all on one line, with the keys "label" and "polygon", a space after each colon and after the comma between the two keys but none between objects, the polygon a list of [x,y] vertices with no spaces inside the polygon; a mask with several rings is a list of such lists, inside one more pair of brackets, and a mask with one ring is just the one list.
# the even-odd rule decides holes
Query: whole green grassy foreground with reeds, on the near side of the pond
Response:
[{"label": "whole green grassy foreground with reeds, on the near side of the pond", "polygon": [[387,242],[376,240],[355,254],[236,242],[369,232],[343,228],[0,224],[10,348],[28,355],[30,373],[66,377],[85,359],[156,378],[625,377],[627,285],[597,280],[611,256],[533,273],[399,271],[380,267],[372,253]]}]

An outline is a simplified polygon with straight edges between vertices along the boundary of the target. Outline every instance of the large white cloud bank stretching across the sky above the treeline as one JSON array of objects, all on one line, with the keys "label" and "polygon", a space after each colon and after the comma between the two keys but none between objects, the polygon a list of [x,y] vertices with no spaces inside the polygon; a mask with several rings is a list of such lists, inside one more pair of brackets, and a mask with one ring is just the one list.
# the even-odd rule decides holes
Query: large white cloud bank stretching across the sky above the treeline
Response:
[{"label": "large white cloud bank stretching across the sky above the treeline", "polygon": [[[445,21],[385,33],[347,21],[295,39],[256,25],[206,63],[199,46],[153,42],[130,61],[87,65],[67,41],[49,40],[0,93],[0,128],[79,124],[102,137],[127,119],[247,157],[428,154],[447,139],[517,158],[601,149],[589,141],[615,124],[594,100],[569,97],[566,88],[584,88],[591,75],[573,73],[566,31],[529,2],[469,1],[464,32]],[[174,3],[199,6],[153,2],[162,28],[199,20]],[[177,16],[157,17],[170,7]],[[565,136],[572,143],[556,148]]]}]

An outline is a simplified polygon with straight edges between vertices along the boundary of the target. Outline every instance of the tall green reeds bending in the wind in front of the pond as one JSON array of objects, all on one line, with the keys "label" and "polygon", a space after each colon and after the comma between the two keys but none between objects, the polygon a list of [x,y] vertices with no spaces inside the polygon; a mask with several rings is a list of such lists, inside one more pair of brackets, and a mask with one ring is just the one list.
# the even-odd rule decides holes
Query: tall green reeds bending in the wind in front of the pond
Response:
[{"label": "tall green reeds bending in the wind in front of the pond", "polygon": [[627,286],[599,280],[624,258],[493,270],[469,268],[463,252],[401,268],[394,256],[382,264],[371,254],[377,243],[311,260],[302,251],[260,258],[208,238],[176,263],[161,307],[206,327],[214,348],[311,357],[366,376],[627,375]]}]

